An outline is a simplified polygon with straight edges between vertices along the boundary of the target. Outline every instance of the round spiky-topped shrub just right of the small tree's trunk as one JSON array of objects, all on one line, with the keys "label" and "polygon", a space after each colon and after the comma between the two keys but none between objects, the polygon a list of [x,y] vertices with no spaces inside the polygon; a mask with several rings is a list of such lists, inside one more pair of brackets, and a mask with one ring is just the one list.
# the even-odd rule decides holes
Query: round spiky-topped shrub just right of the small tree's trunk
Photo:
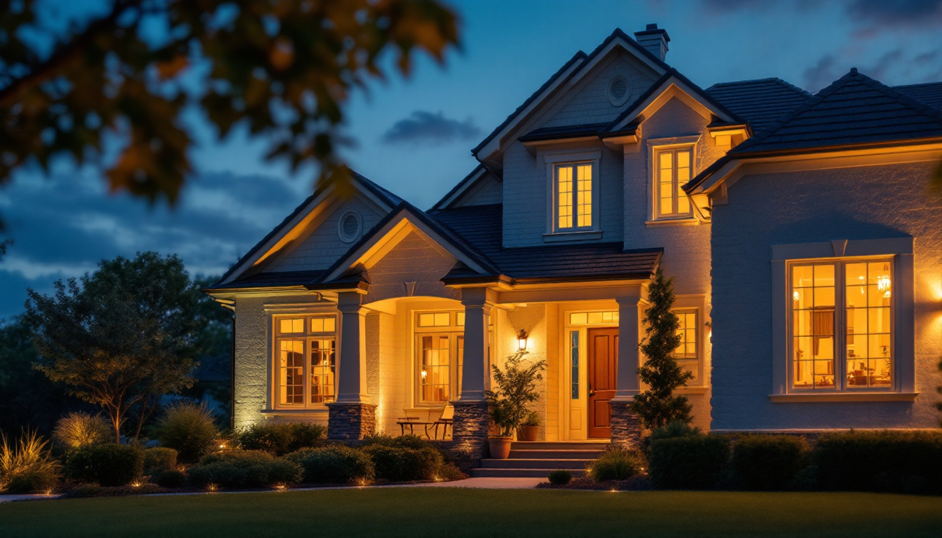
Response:
[{"label": "round spiky-topped shrub just right of the small tree's trunk", "polygon": [[196,462],[213,446],[219,430],[206,404],[178,401],[167,407],[154,428],[164,447],[177,451],[181,462]]}]

